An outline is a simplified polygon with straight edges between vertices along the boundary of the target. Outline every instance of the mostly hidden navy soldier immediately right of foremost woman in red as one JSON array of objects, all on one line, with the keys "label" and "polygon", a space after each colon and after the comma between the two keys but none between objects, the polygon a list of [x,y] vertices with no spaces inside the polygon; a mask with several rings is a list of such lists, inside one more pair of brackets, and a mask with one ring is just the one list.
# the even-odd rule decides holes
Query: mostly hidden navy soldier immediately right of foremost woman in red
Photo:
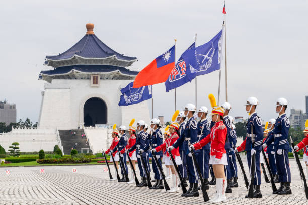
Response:
[{"label": "mostly hidden navy soldier immediately right of foremost woman in red", "polygon": [[[233,120],[232,120],[233,122]],[[236,156],[235,156],[235,153],[233,151],[233,147],[236,146],[237,144],[237,132],[235,131],[235,125],[232,124],[231,125],[231,130],[230,130],[230,133],[229,133],[229,140],[230,140],[230,143],[231,143],[231,149],[229,151],[229,156],[230,156],[230,168],[231,168],[231,175],[232,175],[232,179],[231,179],[231,184],[230,186],[231,187],[234,187],[234,188],[237,188],[239,187],[239,184],[237,182],[237,179],[238,179],[238,167],[237,167],[237,163],[236,163]]]}]

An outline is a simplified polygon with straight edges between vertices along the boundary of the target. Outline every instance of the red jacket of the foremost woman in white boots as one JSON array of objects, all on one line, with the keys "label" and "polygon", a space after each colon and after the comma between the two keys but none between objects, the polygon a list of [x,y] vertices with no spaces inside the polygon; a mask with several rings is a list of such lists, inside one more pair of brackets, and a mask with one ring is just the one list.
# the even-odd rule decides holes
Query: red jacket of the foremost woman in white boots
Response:
[{"label": "red jacket of the foremost woman in white boots", "polygon": [[222,121],[216,122],[212,127],[210,134],[208,134],[201,141],[194,144],[195,150],[201,149],[204,145],[211,142],[211,156],[215,156],[217,159],[221,159],[222,155],[226,153],[224,149],[225,139],[227,134],[227,128]]}]

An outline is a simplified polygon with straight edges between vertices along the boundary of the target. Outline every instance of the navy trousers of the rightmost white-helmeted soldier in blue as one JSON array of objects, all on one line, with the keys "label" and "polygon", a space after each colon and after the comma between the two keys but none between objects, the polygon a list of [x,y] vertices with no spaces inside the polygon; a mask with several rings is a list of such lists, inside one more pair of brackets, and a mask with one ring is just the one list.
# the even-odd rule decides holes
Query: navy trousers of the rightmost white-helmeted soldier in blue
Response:
[{"label": "navy trousers of the rightmost white-helmeted soldier in blue", "polygon": [[291,182],[291,172],[289,166],[288,150],[282,150],[282,154],[275,153],[277,172],[280,182]]}]

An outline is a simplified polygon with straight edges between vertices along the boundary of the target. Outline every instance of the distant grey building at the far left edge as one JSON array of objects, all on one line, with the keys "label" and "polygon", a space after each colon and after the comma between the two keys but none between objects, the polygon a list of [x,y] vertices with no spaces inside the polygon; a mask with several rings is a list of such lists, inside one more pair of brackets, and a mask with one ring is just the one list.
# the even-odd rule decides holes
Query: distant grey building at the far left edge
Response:
[{"label": "distant grey building at the far left edge", "polygon": [[5,122],[7,125],[16,123],[16,105],[0,101],[0,122]]}]

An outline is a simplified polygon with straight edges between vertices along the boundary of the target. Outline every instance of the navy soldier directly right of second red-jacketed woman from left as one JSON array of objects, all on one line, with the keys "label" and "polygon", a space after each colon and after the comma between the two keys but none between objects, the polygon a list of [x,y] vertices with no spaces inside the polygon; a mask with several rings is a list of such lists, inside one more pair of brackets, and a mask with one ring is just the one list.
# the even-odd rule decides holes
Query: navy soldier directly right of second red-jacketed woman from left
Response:
[{"label": "navy soldier directly right of second red-jacketed woman from left", "polygon": [[[142,177],[142,181],[139,185],[137,185],[138,187],[142,187],[142,186],[147,186],[147,181],[146,181],[146,173],[145,173],[145,167],[143,167],[142,163],[141,163],[141,159],[140,157],[143,157],[144,161],[146,160],[146,153],[142,152],[141,156],[139,155],[139,151],[141,149],[144,149],[145,145],[146,145],[146,134],[144,133],[144,127],[145,127],[145,122],[143,120],[139,120],[137,122],[137,130],[139,131],[137,134],[137,139],[136,139],[136,143],[128,149],[128,152],[133,151],[134,149],[136,149],[136,155],[137,155],[137,161],[138,161],[138,167],[140,170],[140,176]],[[144,151],[144,150],[143,150]]]}]

